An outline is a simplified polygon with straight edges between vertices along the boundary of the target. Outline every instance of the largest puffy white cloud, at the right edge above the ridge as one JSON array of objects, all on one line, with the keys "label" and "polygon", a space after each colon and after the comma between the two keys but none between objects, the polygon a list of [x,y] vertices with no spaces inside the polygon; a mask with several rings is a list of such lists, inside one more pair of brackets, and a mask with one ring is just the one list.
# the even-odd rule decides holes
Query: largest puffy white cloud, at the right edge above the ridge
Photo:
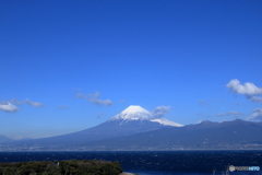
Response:
[{"label": "largest puffy white cloud, at the right edge above the ridge", "polygon": [[248,96],[262,94],[262,88],[258,88],[250,82],[241,84],[240,81],[237,79],[231,80],[226,86],[230,89],[233,92]]}]

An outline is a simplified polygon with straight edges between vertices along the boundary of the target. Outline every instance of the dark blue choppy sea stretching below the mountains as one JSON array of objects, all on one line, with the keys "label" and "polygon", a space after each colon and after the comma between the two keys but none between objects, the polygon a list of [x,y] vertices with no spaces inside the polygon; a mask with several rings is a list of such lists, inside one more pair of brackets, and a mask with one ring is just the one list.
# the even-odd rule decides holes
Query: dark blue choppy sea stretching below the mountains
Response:
[{"label": "dark blue choppy sea stretching below the mountains", "polygon": [[262,175],[261,150],[0,152],[0,162],[62,160],[118,161],[123,172],[139,175],[222,175],[230,165],[231,175]]}]

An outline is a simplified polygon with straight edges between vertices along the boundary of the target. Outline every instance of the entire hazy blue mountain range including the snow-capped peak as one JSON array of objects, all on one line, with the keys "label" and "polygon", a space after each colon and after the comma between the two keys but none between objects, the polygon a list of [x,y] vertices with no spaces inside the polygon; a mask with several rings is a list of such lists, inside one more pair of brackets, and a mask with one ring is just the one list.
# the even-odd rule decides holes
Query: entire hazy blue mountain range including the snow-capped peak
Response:
[{"label": "entire hazy blue mountain range including the snow-capped peak", "polygon": [[96,127],[74,133],[13,141],[0,136],[0,149],[9,150],[194,150],[262,149],[262,122],[202,121],[182,126],[152,118],[140,106],[127,109]]}]

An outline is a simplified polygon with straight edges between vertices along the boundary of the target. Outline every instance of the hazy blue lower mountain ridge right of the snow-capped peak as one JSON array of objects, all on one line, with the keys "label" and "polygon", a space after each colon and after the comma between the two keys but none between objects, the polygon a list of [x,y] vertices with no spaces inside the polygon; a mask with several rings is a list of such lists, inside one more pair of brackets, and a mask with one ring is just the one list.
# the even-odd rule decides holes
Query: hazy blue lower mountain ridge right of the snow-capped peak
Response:
[{"label": "hazy blue lower mountain ridge right of the snow-capped peak", "polygon": [[165,128],[86,143],[93,150],[172,150],[262,148],[262,124],[234,120]]}]

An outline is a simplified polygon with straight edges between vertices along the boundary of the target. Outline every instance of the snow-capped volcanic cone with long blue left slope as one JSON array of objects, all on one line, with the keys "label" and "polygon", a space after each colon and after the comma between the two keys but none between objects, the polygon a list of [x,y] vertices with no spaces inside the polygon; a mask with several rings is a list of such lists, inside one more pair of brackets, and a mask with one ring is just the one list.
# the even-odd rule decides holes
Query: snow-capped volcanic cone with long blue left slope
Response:
[{"label": "snow-capped volcanic cone with long blue left slope", "polygon": [[130,136],[133,133],[157,130],[162,128],[183,127],[180,124],[167,120],[165,118],[156,118],[153,113],[147,112],[141,106],[129,106],[120,114],[109,120],[82,131],[56,136],[43,139],[33,139],[26,141],[12,142],[13,145],[27,147],[78,147],[83,143],[111,139],[117,137]]}]

